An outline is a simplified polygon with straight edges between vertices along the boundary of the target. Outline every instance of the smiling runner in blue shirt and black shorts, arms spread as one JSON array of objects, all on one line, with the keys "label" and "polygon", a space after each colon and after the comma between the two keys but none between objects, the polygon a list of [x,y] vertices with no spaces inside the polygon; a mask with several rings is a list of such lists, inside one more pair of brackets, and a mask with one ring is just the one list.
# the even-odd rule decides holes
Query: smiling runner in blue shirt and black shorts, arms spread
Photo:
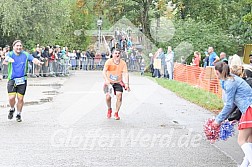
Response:
[{"label": "smiling runner in blue shirt and black shorts, arms spread", "polygon": [[41,65],[43,62],[23,51],[22,42],[15,40],[12,44],[13,51],[9,52],[4,60],[4,64],[8,65],[8,84],[7,90],[9,95],[10,111],[8,119],[13,118],[15,112],[15,104],[17,97],[17,116],[16,120],[21,122],[21,112],[24,105],[24,95],[27,86],[27,70],[28,61]]}]

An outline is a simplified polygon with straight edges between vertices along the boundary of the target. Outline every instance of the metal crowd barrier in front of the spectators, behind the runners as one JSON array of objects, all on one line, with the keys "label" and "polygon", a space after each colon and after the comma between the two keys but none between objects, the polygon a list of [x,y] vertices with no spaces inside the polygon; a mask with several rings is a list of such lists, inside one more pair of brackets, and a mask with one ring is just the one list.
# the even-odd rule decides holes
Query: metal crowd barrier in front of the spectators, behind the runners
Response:
[{"label": "metal crowd barrier in front of the spectators, behind the runners", "polygon": [[[102,71],[104,64],[108,58],[81,58],[70,60],[46,60],[42,66],[33,63],[28,64],[28,76],[31,77],[47,77],[47,76],[68,76],[71,70],[99,70]],[[126,62],[129,71],[140,71],[140,62],[138,59],[122,59]],[[3,78],[7,77],[8,66],[1,63],[1,74]]]}]

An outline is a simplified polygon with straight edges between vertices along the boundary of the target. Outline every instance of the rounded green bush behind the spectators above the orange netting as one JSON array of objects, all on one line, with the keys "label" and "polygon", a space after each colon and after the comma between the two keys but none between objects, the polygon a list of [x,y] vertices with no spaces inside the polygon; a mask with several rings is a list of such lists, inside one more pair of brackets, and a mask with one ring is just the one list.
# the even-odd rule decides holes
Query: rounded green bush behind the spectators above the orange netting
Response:
[{"label": "rounded green bush behind the spectators above the orange netting", "polygon": [[[161,44],[161,47],[172,46],[176,48],[180,43],[187,42],[193,46],[194,51],[201,52],[202,57],[209,46],[214,47],[217,54],[226,52],[227,55],[233,55],[238,50],[236,40],[213,23],[187,19],[174,22],[174,26],[176,29],[174,37],[167,43]],[[187,61],[191,62],[193,53],[189,54],[191,56]]]}]

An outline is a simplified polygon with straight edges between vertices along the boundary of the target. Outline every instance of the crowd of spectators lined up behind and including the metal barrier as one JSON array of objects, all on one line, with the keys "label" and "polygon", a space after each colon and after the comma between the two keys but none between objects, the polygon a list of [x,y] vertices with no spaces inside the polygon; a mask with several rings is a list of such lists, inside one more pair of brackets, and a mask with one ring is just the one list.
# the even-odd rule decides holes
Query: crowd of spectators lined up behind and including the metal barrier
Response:
[{"label": "crowd of spectators lined up behind and including the metal barrier", "polygon": [[[3,65],[2,62],[10,50],[11,48],[8,45],[3,48],[0,47],[0,72],[3,79],[7,78],[8,69],[7,65]],[[37,44],[33,50],[26,51],[44,62],[42,66],[28,64],[28,75],[31,77],[68,76],[70,70],[102,70],[105,61],[111,57],[109,52],[100,53],[91,48],[87,50],[69,50],[68,47],[59,45],[44,47]],[[141,52],[131,46],[122,49],[121,54],[130,71],[140,71]]]}]

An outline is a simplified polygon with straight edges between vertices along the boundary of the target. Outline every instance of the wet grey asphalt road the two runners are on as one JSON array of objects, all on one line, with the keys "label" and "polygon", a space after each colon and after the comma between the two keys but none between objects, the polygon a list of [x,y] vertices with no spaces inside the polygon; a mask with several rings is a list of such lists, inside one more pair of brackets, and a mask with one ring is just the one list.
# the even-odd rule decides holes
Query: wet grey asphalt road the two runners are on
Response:
[{"label": "wet grey asphalt road the two runners are on", "polygon": [[[120,121],[106,118],[101,72],[29,78],[21,123],[8,120],[0,81],[0,166],[236,167],[236,142],[210,144],[203,124],[214,115],[130,74]],[[113,98],[115,106],[115,98]]]}]

